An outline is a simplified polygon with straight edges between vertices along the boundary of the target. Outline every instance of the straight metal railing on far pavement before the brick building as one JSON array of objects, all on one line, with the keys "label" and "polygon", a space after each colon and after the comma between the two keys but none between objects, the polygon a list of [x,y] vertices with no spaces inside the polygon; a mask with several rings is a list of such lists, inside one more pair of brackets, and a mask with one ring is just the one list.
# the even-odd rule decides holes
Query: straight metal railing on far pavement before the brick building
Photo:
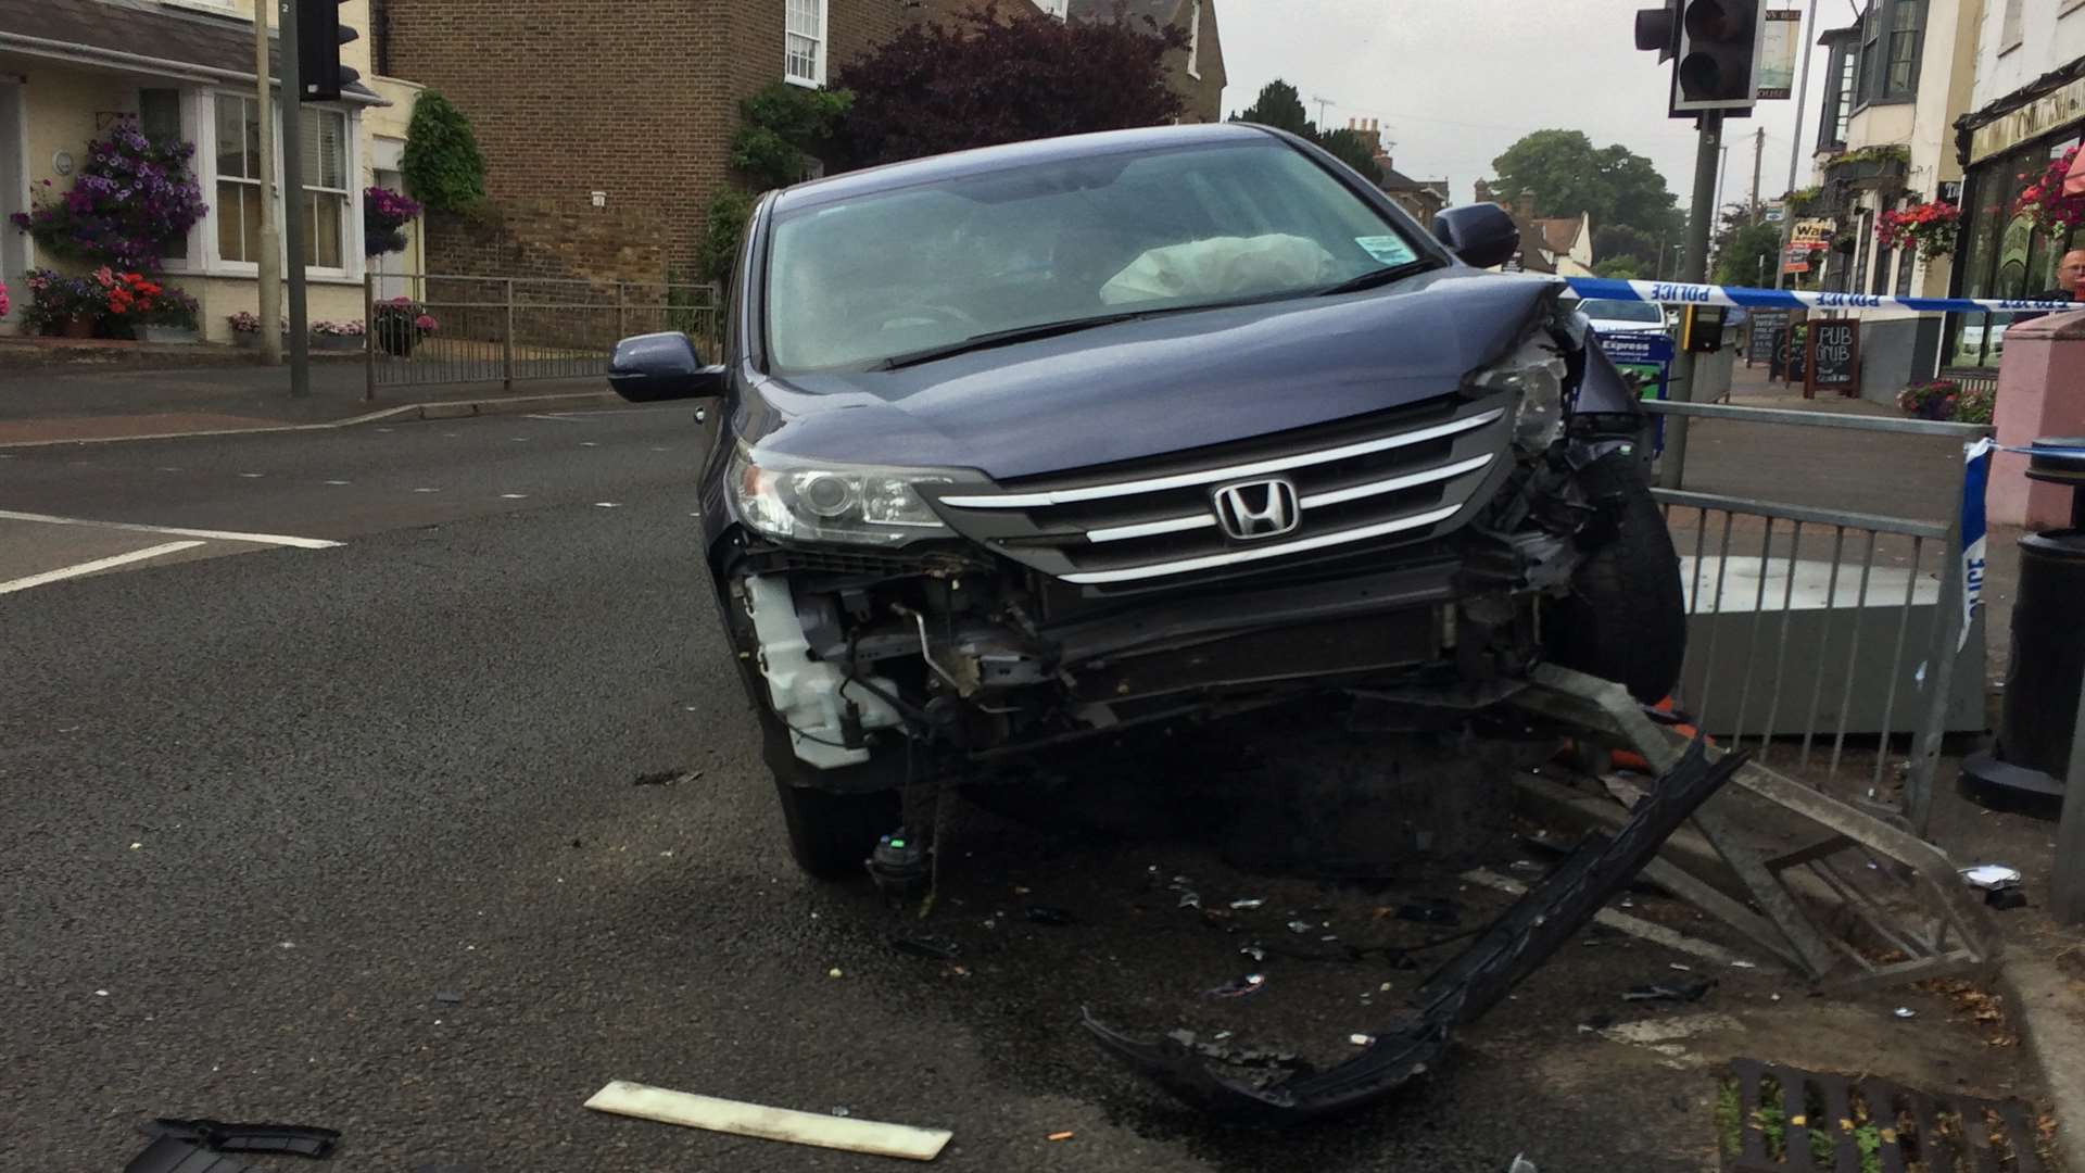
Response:
[{"label": "straight metal railing on far pavement before the brick building", "polygon": [[[379,298],[379,280],[411,294]],[[659,330],[715,353],[717,286],[371,273],[363,282],[365,397],[375,399],[379,386],[603,376],[619,338]]]}]

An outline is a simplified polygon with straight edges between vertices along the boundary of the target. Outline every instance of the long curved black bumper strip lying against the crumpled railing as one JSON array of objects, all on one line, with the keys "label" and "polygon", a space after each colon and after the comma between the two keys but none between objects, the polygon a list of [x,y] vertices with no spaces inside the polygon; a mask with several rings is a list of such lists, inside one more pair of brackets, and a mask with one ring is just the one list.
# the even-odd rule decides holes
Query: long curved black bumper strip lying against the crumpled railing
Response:
[{"label": "long curved black bumper strip lying against the crumpled railing", "polygon": [[1211,1069],[1205,1056],[1178,1039],[1138,1039],[1101,1023],[1090,1010],[1084,1012],[1084,1027],[1132,1071],[1224,1121],[1282,1125],[1380,1102],[1439,1064],[1457,1027],[1480,1019],[1564,943],[1578,939],[1593,914],[1747,758],[1745,751],[1724,753],[1712,766],[1708,743],[1695,737],[1612,839],[1587,835],[1420,987],[1407,1021],[1370,1031],[1376,1044],[1330,1071],[1255,1087]]}]

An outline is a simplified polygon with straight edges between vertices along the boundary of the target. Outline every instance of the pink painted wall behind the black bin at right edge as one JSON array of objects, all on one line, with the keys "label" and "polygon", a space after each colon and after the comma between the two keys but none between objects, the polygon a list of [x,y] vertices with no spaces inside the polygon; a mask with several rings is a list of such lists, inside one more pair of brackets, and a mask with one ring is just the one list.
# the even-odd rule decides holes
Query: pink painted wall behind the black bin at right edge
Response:
[{"label": "pink painted wall behind the black bin at right edge", "polygon": [[[1997,367],[1997,442],[2085,436],[2085,311],[2006,330]],[[2027,480],[2027,457],[1997,453],[1987,516],[1993,524],[2054,530],[2070,524],[2070,488]]]}]

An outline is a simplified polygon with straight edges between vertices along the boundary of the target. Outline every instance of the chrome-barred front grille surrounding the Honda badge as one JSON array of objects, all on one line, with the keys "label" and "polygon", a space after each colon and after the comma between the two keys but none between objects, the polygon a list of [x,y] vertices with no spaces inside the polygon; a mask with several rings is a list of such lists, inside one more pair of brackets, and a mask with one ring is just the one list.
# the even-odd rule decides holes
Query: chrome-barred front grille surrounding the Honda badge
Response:
[{"label": "chrome-barred front grille surrounding the Honda badge", "polygon": [[[1460,394],[1247,442],[1170,453],[995,493],[934,499],[963,536],[1080,586],[1120,586],[1366,543],[1439,536],[1503,474],[1510,397]],[[1282,478],[1299,520],[1278,536],[1232,536],[1211,495]]]}]

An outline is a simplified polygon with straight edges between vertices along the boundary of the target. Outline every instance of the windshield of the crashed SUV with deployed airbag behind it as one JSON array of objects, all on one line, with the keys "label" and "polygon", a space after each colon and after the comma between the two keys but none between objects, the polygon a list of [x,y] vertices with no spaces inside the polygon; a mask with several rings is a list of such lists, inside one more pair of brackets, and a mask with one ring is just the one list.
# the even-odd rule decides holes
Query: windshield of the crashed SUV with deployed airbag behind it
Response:
[{"label": "windshield of the crashed SUV with deployed airbag behind it", "polygon": [[1063,159],[784,213],[767,346],[780,372],[861,367],[1038,326],[1301,296],[1422,255],[1272,138]]}]

